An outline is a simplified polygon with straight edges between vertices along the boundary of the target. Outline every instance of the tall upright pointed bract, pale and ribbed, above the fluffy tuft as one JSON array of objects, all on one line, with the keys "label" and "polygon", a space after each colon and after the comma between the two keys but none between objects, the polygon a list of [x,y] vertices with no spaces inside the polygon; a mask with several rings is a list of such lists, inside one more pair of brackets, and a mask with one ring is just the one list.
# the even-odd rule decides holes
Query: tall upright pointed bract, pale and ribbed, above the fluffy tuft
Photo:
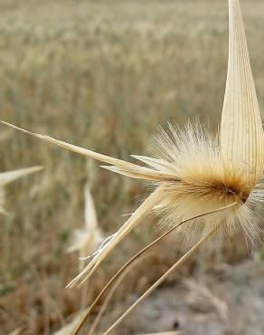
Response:
[{"label": "tall upright pointed bract, pale and ribbed, above the fluffy tuft", "polygon": [[229,0],[229,24],[221,152],[231,173],[251,187],[263,170],[263,129],[239,0]]}]

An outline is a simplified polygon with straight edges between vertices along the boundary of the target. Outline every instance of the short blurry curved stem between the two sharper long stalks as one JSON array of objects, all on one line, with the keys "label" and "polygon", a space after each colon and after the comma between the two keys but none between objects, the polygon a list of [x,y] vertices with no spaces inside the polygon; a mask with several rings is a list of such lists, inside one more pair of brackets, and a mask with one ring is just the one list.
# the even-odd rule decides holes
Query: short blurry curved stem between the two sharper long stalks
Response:
[{"label": "short blurry curved stem between the two sharper long stalks", "polygon": [[143,255],[142,257],[137,258],[137,261],[135,261],[134,263],[130,263],[129,266],[127,266],[127,269],[119,276],[117,282],[115,282],[115,284],[113,285],[111,290],[108,292],[108,296],[107,296],[105,302],[102,304],[98,315],[96,316],[95,320],[93,321],[92,325],[90,326],[90,331],[89,331],[88,335],[93,335],[95,333],[96,327],[98,326],[99,321],[100,321],[104,311],[106,311],[106,309],[108,307],[108,303],[112,299],[115,292],[118,290],[118,287],[119,287],[120,283],[125,279],[127,274],[130,273],[130,271],[133,270],[134,267],[136,267],[138,263],[145,260],[147,256],[150,256],[150,254],[146,254],[146,255]]}]

